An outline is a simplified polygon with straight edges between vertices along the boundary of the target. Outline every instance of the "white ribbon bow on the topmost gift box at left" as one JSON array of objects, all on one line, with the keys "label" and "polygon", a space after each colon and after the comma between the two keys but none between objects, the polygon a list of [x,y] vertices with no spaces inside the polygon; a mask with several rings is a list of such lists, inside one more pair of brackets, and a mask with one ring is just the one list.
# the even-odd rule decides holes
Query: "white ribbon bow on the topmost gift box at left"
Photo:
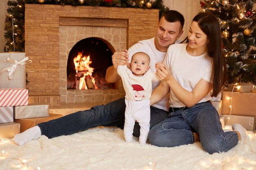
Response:
[{"label": "white ribbon bow on the topmost gift box at left", "polygon": [[[20,62],[19,61],[16,61],[16,60],[13,60],[11,58],[7,58],[6,61],[0,61],[0,62],[7,62],[7,63],[11,63],[13,64],[12,66],[9,66],[7,68],[4,68],[2,71],[1,71],[1,74],[4,72],[4,71],[7,71],[8,72],[8,79],[12,79],[14,74],[15,74],[15,71],[16,71],[16,68],[17,68],[17,65],[20,65],[22,66],[25,70],[29,71],[29,72],[33,72],[33,71],[30,71],[28,70],[27,68],[25,68],[25,66],[27,66],[27,64],[30,64],[32,62],[32,60],[29,60],[29,57],[25,57],[23,60],[21,60]],[[34,69],[32,67],[30,67],[31,69]]]}]

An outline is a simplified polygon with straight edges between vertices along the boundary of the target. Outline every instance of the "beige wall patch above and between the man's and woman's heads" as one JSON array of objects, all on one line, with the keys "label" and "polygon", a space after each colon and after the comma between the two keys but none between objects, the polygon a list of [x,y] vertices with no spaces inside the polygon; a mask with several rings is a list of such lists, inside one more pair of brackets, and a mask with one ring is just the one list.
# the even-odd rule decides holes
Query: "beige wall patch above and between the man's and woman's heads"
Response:
[{"label": "beige wall patch above and between the man's and woman's heads", "polygon": [[201,11],[200,0],[163,0],[163,4],[171,10],[179,11],[184,16],[184,33],[180,38],[183,40],[187,36],[194,16]]}]

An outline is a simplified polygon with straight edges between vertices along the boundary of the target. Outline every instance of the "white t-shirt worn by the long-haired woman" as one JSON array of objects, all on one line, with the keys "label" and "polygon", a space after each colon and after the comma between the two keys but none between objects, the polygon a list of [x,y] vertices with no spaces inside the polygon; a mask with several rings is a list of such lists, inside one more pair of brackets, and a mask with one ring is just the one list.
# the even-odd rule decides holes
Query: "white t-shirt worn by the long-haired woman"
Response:
[{"label": "white t-shirt worn by the long-haired woman", "polygon": [[[207,53],[200,56],[189,55],[186,51],[186,44],[171,45],[164,59],[164,63],[170,69],[173,77],[187,91],[193,91],[200,79],[205,79],[207,82],[212,82],[213,58]],[[210,93],[206,95],[200,102],[211,100]],[[170,91],[170,107],[178,108],[185,106],[179,99]]]}]

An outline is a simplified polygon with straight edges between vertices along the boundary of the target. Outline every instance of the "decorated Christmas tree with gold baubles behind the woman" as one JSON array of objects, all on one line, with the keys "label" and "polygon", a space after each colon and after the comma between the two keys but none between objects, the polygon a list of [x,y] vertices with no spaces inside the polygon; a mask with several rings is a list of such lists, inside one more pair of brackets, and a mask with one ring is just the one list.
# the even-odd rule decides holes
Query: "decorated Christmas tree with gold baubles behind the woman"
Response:
[{"label": "decorated Christmas tree with gold baubles behind the woman", "polygon": [[222,31],[228,82],[256,84],[255,0],[202,0],[202,11],[215,15]]}]

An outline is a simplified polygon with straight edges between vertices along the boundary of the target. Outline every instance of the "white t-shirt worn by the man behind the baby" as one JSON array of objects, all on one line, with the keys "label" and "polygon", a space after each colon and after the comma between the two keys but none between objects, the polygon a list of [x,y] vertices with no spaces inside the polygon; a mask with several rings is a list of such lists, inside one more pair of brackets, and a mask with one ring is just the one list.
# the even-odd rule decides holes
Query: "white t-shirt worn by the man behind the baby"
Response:
[{"label": "white t-shirt worn by the man behind the baby", "polygon": [[[180,43],[180,42],[182,42],[182,40],[177,39],[175,43]],[[142,41],[139,41],[137,44],[134,44],[133,46],[131,46],[128,49],[129,62],[131,61],[132,55],[137,52],[144,52],[148,54],[148,56],[150,57],[150,69],[153,72],[156,72],[155,62],[163,62],[164,57],[166,55],[166,52],[158,51],[155,48],[155,38],[142,40]],[[160,84],[160,81],[152,81],[152,89],[154,90],[159,84]],[[152,106],[168,111],[168,108],[169,108],[168,102],[169,102],[169,94],[166,95],[164,99],[157,102],[156,104],[153,104]]]}]

